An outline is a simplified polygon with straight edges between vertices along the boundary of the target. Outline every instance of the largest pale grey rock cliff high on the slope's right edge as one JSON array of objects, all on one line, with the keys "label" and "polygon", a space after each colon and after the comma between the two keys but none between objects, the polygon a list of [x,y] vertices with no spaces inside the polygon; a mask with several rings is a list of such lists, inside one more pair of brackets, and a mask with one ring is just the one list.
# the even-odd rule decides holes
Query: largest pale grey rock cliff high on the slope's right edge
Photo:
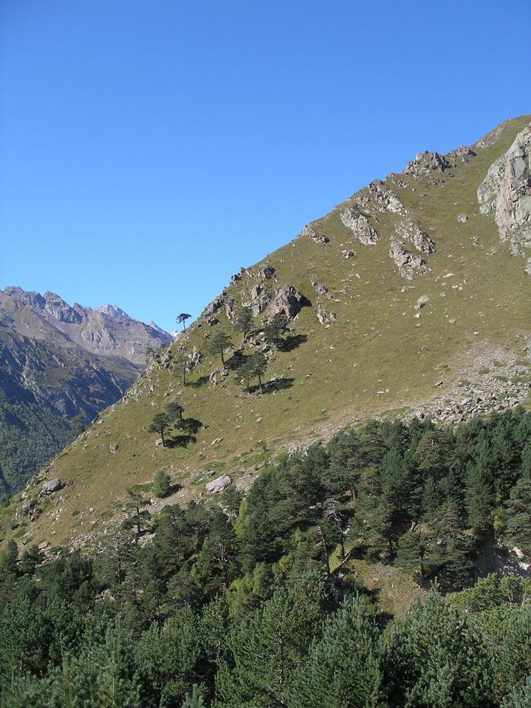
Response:
[{"label": "largest pale grey rock cliff high on the slope's right edge", "polygon": [[531,124],[489,167],[477,197],[482,214],[494,210],[500,239],[510,242],[513,255],[531,249]]}]

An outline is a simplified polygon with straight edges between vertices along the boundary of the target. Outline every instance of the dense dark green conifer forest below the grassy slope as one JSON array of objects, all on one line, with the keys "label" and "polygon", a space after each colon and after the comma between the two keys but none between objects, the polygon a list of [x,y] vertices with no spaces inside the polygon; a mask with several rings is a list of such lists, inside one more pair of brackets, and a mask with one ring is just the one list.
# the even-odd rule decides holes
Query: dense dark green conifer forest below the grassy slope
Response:
[{"label": "dense dark green conifer forest below the grassy slope", "polygon": [[[217,506],[133,506],[98,552],[4,549],[2,707],[531,706],[531,581],[479,573],[531,552],[531,413],[369,421]],[[423,597],[385,614],[353,559]]]}]

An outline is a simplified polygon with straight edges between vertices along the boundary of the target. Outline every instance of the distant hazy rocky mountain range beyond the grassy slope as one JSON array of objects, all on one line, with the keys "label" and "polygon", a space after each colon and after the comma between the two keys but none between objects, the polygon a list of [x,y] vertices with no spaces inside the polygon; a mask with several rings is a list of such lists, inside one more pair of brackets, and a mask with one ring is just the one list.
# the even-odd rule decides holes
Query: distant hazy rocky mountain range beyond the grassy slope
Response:
[{"label": "distant hazy rocky mountain range beyond the grassy slope", "polygon": [[16,489],[113,404],[171,336],[116,306],[70,307],[52,292],[0,291],[0,484]]}]

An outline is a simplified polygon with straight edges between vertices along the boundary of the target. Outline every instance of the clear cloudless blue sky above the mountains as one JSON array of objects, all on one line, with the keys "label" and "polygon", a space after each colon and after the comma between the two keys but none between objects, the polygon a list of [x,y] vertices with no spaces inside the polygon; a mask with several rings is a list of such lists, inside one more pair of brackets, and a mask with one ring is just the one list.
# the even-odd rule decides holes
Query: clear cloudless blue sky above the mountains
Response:
[{"label": "clear cloudless blue sky above the mountains", "polygon": [[529,0],[4,0],[0,25],[0,288],[164,329],[531,111]]}]

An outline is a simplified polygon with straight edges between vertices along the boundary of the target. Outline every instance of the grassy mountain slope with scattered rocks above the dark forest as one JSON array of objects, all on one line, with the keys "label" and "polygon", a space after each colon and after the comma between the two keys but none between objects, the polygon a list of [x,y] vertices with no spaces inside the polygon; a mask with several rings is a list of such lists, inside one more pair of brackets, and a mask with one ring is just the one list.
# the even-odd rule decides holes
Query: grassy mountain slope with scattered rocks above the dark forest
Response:
[{"label": "grassy mountain slope with scattered rocks above the dark forest", "polygon": [[[171,501],[185,501],[207,496],[205,483],[222,472],[248,486],[282,450],[370,416],[416,412],[452,422],[525,401],[529,124],[529,116],[507,121],[445,156],[418,154],[403,173],[372,182],[234,275],[55,460],[48,476],[69,486],[45,513],[32,523],[13,506],[5,518],[34,541],[53,534],[58,543],[90,542],[123,515],[127,486],[144,484],[149,496],[161,469],[182,485]],[[282,348],[261,334],[242,342],[234,322],[246,303],[258,333],[274,312],[299,309]],[[234,348],[225,351],[227,369],[209,353],[220,331],[243,355],[265,352],[263,396],[248,394],[231,370]],[[180,347],[194,364],[185,385],[173,364]],[[171,401],[198,421],[186,446],[178,428],[169,447],[149,431]],[[35,482],[25,500],[38,489]]]}]

